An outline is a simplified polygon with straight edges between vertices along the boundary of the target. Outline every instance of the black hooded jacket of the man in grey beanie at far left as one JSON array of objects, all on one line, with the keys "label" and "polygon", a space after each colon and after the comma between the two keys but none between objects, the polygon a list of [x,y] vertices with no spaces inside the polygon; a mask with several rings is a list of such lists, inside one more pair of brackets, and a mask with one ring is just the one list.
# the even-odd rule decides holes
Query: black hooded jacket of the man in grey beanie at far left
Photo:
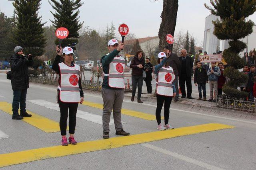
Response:
[{"label": "black hooded jacket of the man in grey beanie at far left", "polygon": [[12,70],[12,90],[24,90],[29,88],[28,67],[33,65],[32,57],[20,57],[12,55],[10,57],[10,65]]}]

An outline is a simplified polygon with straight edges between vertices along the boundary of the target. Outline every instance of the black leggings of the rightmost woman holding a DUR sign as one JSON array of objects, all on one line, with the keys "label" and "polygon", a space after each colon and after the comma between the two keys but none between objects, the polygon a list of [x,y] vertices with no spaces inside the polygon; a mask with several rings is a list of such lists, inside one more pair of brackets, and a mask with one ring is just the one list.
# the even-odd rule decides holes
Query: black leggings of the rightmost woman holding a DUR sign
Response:
[{"label": "black leggings of the rightmost woman holding a DUR sign", "polygon": [[156,121],[157,125],[161,123],[161,110],[164,104],[164,124],[168,124],[169,114],[170,114],[170,105],[172,102],[172,96],[161,96],[156,94]]}]

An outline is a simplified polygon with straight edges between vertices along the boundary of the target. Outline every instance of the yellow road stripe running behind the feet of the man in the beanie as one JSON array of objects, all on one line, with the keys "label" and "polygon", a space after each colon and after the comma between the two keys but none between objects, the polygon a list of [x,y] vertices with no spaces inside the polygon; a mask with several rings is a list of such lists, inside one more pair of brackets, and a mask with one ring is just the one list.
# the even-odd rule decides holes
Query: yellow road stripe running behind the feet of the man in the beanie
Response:
[{"label": "yellow road stripe running behind the feet of the man in the beanie", "polygon": [[[12,115],[12,104],[7,102],[0,102],[0,110]],[[22,121],[25,121],[26,123],[37,127],[38,129],[41,129],[42,131],[45,131],[47,133],[60,131],[60,125],[58,122],[33,113],[29,110],[26,110],[26,112],[31,114],[32,117],[24,117]]]}]

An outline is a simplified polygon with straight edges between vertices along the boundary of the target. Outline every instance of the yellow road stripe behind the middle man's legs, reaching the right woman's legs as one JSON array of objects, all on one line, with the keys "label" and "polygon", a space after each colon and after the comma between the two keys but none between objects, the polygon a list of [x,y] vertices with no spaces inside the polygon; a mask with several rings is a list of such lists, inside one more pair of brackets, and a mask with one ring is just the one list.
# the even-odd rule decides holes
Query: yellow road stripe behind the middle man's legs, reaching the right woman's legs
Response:
[{"label": "yellow road stripe behind the middle man's legs, reaching the right woman's legs", "polygon": [[[85,106],[90,106],[90,107],[95,107],[95,108],[98,108],[98,109],[103,109],[103,104],[98,104],[98,103],[89,102],[89,101],[84,101],[82,104],[85,105]],[[151,114],[148,114],[148,113],[143,113],[143,112],[140,112],[140,111],[122,109],[121,112],[124,115],[138,117],[138,118],[145,119],[145,120],[156,120],[155,115],[151,115]],[[161,116],[161,119],[164,119],[164,117]]]}]

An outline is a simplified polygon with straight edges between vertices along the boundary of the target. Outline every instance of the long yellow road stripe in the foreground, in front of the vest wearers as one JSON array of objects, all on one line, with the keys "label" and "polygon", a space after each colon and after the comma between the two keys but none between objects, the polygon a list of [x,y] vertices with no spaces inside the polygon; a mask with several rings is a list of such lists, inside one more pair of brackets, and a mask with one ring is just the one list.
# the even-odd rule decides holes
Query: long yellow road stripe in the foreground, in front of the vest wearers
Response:
[{"label": "long yellow road stripe in the foreground, in front of the vest wearers", "polygon": [[[119,148],[128,145],[158,141],[162,139],[169,139],[179,136],[191,135],[195,133],[203,133],[209,131],[216,131],[221,129],[230,129],[234,126],[209,123],[204,125],[196,125],[190,127],[180,127],[173,130],[154,131],[149,133],[142,133],[124,137],[113,137],[110,139],[101,139],[96,141],[86,141],[78,143],[77,145],[54,146],[32,150],[24,150],[20,152],[12,152],[0,154],[0,167],[10,166],[35,160],[43,160],[48,158],[56,158],[72,154],[80,154],[92,152],[97,150]],[[15,159],[14,159],[15,158]]]}]

